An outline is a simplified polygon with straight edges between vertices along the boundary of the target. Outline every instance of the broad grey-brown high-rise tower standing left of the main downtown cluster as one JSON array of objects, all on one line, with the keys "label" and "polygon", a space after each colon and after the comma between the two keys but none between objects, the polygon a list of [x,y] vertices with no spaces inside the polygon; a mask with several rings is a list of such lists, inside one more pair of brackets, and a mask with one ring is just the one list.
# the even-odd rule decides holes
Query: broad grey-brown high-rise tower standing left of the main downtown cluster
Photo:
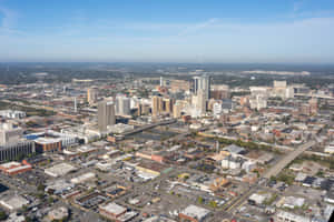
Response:
[{"label": "broad grey-brown high-rise tower standing left of the main downtown cluster", "polygon": [[112,101],[101,101],[98,103],[98,128],[100,132],[106,132],[108,125],[116,123],[115,103]]}]

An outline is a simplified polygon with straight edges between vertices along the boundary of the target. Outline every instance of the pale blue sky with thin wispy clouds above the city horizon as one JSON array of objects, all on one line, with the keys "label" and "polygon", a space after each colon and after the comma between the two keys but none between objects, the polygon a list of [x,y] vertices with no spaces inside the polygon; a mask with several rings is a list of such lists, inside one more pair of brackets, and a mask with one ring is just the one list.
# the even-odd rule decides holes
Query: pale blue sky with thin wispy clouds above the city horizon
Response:
[{"label": "pale blue sky with thin wispy clouds above the city horizon", "polygon": [[334,63],[333,0],[0,0],[0,62]]}]

